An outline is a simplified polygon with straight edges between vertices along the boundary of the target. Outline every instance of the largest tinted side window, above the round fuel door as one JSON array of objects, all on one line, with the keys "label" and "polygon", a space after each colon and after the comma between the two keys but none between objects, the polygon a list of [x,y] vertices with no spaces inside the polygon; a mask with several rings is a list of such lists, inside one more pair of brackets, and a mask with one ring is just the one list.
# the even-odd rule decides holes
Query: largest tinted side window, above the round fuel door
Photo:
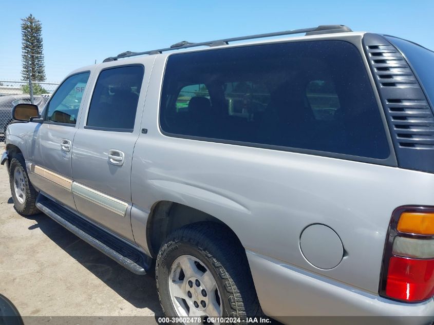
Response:
[{"label": "largest tinted side window, above the round fuel door", "polygon": [[[183,95],[188,87],[206,91],[188,97]],[[344,41],[171,55],[160,126],[175,136],[208,141],[389,156],[361,54]]]}]

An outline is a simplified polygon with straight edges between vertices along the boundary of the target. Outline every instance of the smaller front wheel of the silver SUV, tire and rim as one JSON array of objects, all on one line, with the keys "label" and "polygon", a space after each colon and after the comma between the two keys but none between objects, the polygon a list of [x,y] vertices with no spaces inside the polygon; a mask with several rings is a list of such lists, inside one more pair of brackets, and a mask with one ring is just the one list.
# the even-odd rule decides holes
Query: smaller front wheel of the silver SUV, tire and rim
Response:
[{"label": "smaller front wheel of the silver SUV, tire and rim", "polygon": [[9,182],[16,212],[22,216],[40,213],[36,207],[37,192],[30,183],[22,154],[16,154],[10,161]]}]

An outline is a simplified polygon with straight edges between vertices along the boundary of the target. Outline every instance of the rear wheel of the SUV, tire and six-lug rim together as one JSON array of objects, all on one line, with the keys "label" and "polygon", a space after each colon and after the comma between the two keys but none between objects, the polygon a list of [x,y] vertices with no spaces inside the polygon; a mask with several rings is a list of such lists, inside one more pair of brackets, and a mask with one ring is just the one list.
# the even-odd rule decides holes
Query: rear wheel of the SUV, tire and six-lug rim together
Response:
[{"label": "rear wheel of the SUV, tire and six-lug rim together", "polygon": [[217,324],[228,318],[246,323],[247,317],[262,315],[244,248],[219,224],[196,223],[169,235],[155,273],[169,318]]}]

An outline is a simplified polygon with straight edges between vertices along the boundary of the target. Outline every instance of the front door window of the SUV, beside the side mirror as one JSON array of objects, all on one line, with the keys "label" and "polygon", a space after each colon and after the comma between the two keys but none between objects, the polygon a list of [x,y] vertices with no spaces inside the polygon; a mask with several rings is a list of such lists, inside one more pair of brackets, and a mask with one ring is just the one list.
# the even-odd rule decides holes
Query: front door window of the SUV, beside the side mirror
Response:
[{"label": "front door window of the SUV, beside the side mirror", "polygon": [[76,124],[81,100],[90,72],[71,75],[48,102],[46,121]]}]

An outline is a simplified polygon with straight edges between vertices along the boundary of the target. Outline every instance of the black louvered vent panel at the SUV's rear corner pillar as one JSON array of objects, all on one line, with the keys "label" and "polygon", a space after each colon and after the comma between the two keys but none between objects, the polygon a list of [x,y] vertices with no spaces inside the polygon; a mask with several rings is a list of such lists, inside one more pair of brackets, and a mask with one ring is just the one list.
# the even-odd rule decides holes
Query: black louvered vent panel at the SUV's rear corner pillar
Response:
[{"label": "black louvered vent panel at the SUV's rear corner pillar", "polygon": [[[434,116],[416,76],[403,55],[383,36],[365,34],[363,45],[382,100],[398,164],[433,173]],[[429,153],[422,152],[427,150]],[[430,161],[426,161],[427,158]]]}]

